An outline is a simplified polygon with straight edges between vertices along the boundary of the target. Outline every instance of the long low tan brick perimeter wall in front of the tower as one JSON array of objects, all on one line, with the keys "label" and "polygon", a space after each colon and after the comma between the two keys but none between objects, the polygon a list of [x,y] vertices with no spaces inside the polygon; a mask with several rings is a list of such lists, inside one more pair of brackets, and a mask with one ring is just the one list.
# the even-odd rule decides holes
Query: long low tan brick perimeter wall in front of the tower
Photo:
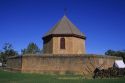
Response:
[{"label": "long low tan brick perimeter wall in front of the tower", "polygon": [[[96,67],[113,66],[116,57],[95,55],[25,55],[22,57],[22,72],[91,75]],[[10,58],[8,67],[19,68],[19,59]],[[20,65],[20,64],[19,64]]]}]

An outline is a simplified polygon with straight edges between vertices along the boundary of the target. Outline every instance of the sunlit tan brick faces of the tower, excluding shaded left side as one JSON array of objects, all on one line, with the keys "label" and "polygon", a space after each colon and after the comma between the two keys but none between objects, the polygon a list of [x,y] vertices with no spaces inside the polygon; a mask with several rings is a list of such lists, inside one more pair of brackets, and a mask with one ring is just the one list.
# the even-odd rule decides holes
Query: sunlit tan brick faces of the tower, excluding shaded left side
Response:
[{"label": "sunlit tan brick faces of the tower, excluding shaded left side", "polygon": [[85,54],[85,40],[76,37],[64,37],[65,49],[60,49],[60,38],[53,37],[53,54]]}]

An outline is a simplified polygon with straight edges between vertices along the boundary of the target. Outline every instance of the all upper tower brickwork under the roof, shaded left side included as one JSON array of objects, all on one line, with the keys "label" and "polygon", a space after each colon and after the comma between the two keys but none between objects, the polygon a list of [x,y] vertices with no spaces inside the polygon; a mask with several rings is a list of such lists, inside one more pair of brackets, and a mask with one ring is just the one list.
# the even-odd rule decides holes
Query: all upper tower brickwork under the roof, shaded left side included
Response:
[{"label": "all upper tower brickwork under the roof, shaded left side included", "polygon": [[45,54],[85,54],[85,40],[77,37],[64,37],[65,49],[60,49],[60,38],[53,37],[44,40]]}]

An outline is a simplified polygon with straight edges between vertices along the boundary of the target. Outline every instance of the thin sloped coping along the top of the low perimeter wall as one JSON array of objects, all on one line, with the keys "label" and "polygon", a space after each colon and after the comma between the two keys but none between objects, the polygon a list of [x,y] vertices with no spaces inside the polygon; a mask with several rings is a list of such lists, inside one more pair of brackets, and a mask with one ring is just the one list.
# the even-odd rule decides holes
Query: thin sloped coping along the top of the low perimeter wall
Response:
[{"label": "thin sloped coping along the top of the low perimeter wall", "polygon": [[122,59],[121,57],[97,55],[97,54],[25,54],[23,56],[12,56],[8,59],[26,58],[26,57],[41,57],[41,58],[110,58]]}]

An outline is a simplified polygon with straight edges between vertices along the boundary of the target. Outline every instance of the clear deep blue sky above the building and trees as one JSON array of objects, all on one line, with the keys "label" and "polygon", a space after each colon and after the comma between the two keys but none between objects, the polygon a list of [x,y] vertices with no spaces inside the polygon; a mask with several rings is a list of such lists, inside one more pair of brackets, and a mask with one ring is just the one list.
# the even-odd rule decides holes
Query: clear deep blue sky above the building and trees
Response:
[{"label": "clear deep blue sky above the building and trees", "polygon": [[42,36],[64,8],[86,35],[87,53],[125,49],[125,0],[0,0],[0,49],[5,42],[18,52],[29,42],[42,48]]}]

